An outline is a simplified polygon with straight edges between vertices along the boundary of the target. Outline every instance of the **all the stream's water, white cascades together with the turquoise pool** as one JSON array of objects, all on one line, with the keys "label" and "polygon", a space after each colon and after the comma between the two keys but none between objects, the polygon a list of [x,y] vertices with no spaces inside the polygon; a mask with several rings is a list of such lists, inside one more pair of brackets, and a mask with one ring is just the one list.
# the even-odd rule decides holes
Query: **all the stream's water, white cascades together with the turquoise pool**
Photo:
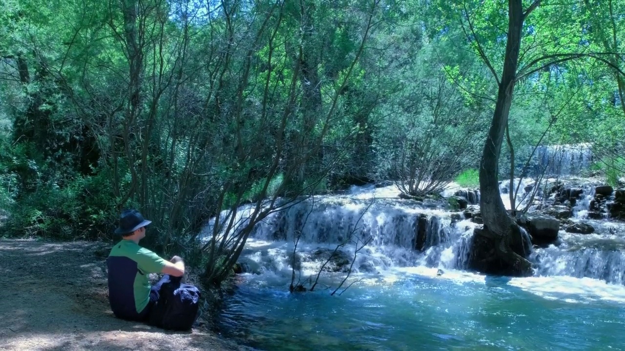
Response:
[{"label": "all the stream's water, white cascades together with the turquoise pool", "polygon": [[[519,192],[531,185],[523,180]],[[625,230],[587,220],[592,187],[580,189],[572,221],[583,219],[596,233],[560,230],[559,245],[526,247],[536,264],[529,278],[463,270],[477,224],[442,202],[417,204],[372,187],[301,202],[254,228],[241,255],[246,282],[228,303],[222,330],[261,350],[408,350],[415,343],[423,350],[625,349],[616,336],[625,327]],[[251,209],[242,207],[235,222]],[[297,280],[313,276],[344,242],[317,293],[289,294],[292,268]],[[351,272],[357,284],[331,298],[362,243]]]}]

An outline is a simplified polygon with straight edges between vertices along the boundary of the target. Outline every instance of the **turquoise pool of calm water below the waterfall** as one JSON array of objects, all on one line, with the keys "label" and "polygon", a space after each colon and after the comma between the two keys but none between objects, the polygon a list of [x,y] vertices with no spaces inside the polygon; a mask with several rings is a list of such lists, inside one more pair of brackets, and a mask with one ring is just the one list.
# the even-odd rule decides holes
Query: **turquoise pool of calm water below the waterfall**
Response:
[{"label": "turquoise pool of calm water below the waterfall", "polygon": [[404,272],[330,296],[248,278],[222,330],[259,350],[625,350],[625,289],[599,280]]}]

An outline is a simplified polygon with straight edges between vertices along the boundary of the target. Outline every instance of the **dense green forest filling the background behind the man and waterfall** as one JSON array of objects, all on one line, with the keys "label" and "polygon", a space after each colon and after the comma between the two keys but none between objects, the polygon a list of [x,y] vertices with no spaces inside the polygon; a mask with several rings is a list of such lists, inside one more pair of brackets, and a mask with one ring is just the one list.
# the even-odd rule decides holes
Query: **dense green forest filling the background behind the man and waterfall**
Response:
[{"label": "dense green forest filling the background behind the man and waterfall", "polygon": [[[625,1],[522,4],[532,13],[489,172],[509,179],[539,162],[536,146],[587,144],[587,172],[616,185]],[[309,195],[479,186],[506,1],[0,7],[0,235],[111,240],[134,207],[154,222],[148,247],[184,253],[219,284],[254,224]]]}]

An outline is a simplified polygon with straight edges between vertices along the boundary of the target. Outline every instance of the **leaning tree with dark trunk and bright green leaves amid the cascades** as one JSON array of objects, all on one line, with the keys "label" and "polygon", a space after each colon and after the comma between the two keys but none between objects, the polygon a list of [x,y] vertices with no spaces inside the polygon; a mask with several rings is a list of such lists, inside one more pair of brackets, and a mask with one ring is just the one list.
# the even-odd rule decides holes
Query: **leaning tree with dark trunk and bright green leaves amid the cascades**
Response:
[{"label": "leaning tree with dark trunk and bright green leaves amid the cascades", "polygon": [[[493,63],[496,61],[492,59],[492,52],[497,51],[502,41],[499,37],[501,34],[496,30],[497,21],[491,18],[494,25],[486,32],[490,41],[483,39],[479,35],[479,28],[484,28],[488,24],[483,20],[479,22],[471,18],[467,2],[462,2],[461,6],[461,18],[466,21],[463,22],[463,27],[466,29],[467,39],[472,42],[474,50],[489,68],[498,86],[491,127],[484,142],[479,169],[480,207],[484,227],[475,231],[472,252],[473,267],[484,272],[511,275],[531,274],[531,264],[523,257],[524,239],[521,229],[507,214],[499,194],[499,157],[506,128],[509,127],[508,117],[516,83],[536,76],[541,71],[549,71],[553,67],[561,66],[565,62],[586,58],[604,62],[615,69],[618,74],[622,74],[618,67],[604,58],[609,53],[582,50],[584,42],[582,39],[586,38],[583,36],[581,27],[577,26],[580,11],[574,6],[549,4],[546,12],[538,17],[541,26],[532,23],[524,27],[528,16],[540,5],[541,0],[534,0],[524,9],[522,0],[508,1],[506,47],[502,52],[501,65]],[[496,14],[496,11],[493,10],[496,7],[496,4],[476,6],[479,11],[490,11],[491,16],[494,17],[496,15],[493,13]],[[556,14],[556,11],[561,12],[558,15],[571,12],[572,16],[567,17],[569,22],[546,19],[546,13]],[[542,30],[541,36],[536,35],[539,29]],[[524,37],[531,37],[533,40],[529,41]],[[524,51],[521,54],[522,43],[524,43]],[[501,76],[497,73],[499,71],[497,67],[501,67]]]}]

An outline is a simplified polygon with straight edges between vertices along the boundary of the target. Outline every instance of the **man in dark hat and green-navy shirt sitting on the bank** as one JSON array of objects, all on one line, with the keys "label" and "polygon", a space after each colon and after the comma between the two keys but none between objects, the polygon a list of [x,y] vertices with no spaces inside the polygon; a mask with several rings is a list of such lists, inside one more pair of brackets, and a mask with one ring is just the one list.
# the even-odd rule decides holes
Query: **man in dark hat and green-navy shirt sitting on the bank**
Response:
[{"label": "man in dark hat and green-navy shirt sitting on the bank", "polygon": [[[113,314],[125,320],[147,322],[154,305],[159,301],[164,282],[181,282],[184,278],[184,262],[174,256],[171,262],[151,250],[139,246],[146,236],[146,220],[138,210],[124,210],[115,234],[122,240],[111,249],[108,266],[109,304]],[[163,278],[150,286],[148,274],[164,273]]]}]

